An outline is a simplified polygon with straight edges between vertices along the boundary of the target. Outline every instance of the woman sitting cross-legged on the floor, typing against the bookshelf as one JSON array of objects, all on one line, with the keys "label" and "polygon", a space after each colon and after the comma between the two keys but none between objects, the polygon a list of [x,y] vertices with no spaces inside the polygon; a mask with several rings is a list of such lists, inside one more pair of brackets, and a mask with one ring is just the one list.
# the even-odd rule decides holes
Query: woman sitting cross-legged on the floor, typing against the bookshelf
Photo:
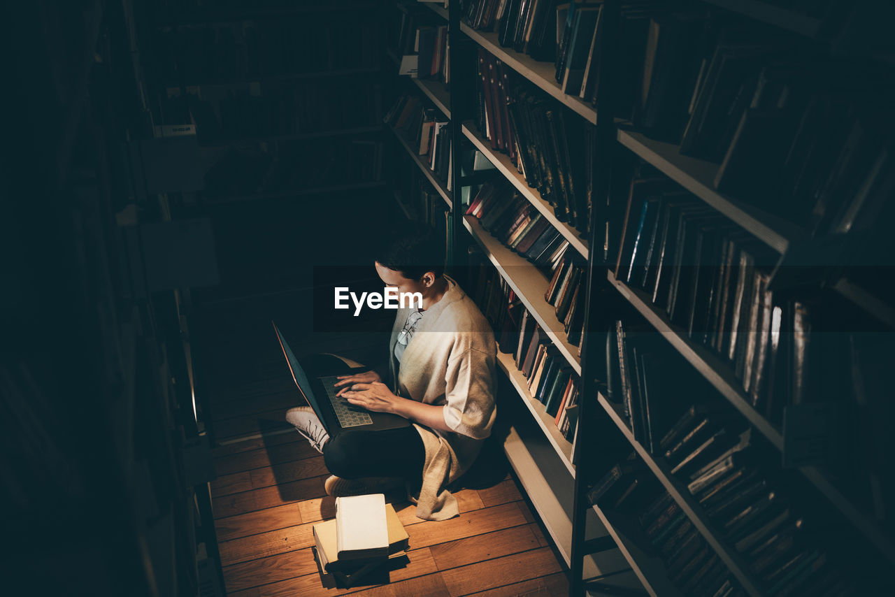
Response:
[{"label": "woman sitting cross-legged on the floor, typing against the bookshelf", "polygon": [[422,308],[397,311],[388,345],[388,373],[342,376],[339,395],[371,411],[413,422],[389,431],[348,430],[329,440],[310,407],[286,414],[323,454],[331,496],[378,492],[409,482],[416,515],[459,514],[447,486],[473,464],[496,416],[497,347],[482,311],[444,275],[443,245],[434,232],[409,229],[376,255],[386,286],[422,294]]}]

